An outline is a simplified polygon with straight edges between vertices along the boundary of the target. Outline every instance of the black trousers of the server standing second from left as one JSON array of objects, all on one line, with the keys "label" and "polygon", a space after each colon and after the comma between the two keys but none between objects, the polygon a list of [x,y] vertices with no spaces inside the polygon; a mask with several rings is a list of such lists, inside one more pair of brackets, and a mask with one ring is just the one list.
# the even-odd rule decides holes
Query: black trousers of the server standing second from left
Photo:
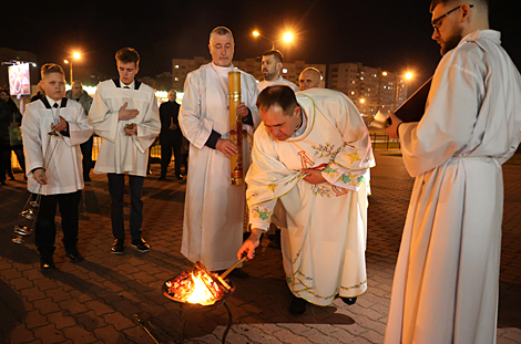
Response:
[{"label": "black trousers of the server standing second from left", "polygon": [[[125,175],[108,174],[109,191],[111,194],[111,219],[114,239],[125,240],[125,223],[123,220],[123,195],[125,192]],[[144,177],[129,175],[131,194],[130,230],[132,240],[141,239],[141,225],[143,223],[143,195]]]}]

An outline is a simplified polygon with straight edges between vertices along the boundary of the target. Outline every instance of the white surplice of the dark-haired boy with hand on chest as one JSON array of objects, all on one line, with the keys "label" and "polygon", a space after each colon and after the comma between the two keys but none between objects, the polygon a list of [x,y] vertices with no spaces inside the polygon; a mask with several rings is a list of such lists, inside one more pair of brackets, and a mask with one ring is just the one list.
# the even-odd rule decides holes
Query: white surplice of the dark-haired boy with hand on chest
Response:
[{"label": "white surplice of the dark-haired boy with hand on chest", "polygon": [[[94,133],[103,137],[94,167],[95,174],[124,174],[146,177],[149,148],[160,134],[161,121],[154,90],[134,80],[134,88],[122,88],[120,80],[106,80],[98,85],[89,122]],[[134,119],[119,121],[123,104],[136,108]],[[127,136],[126,124],[137,125],[137,135]]]}]

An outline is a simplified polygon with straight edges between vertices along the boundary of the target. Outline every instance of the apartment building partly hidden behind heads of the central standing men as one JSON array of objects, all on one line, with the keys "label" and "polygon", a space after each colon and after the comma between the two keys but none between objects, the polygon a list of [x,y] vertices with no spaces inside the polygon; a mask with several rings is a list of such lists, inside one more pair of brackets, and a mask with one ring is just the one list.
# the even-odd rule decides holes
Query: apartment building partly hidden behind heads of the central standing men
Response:
[{"label": "apartment building partly hidden behind heads of the central standing men", "polygon": [[[245,61],[234,61],[234,66],[252,74],[256,80],[262,81],[263,72],[260,70],[260,58],[246,59]],[[194,59],[172,59],[173,88],[182,92],[186,75],[206,63],[210,63],[210,60],[201,56],[195,56]],[[287,79],[298,85],[298,76],[300,75],[300,72],[308,66],[313,66],[319,70],[323,79],[326,79],[326,64],[306,63],[305,61],[284,62],[282,75],[284,79]]]}]

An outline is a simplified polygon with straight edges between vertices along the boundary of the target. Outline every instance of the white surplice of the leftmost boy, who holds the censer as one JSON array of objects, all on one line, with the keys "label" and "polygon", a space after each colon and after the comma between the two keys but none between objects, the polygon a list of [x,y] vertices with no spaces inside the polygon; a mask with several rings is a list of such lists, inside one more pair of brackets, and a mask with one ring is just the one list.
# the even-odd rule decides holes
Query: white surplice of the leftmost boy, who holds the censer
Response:
[{"label": "white surplice of the leftmost boy, who holds the censer", "polygon": [[[92,136],[92,127],[83,114],[83,106],[74,101],[62,98],[61,106],[54,108],[47,97],[28,104],[22,118],[22,139],[25,152],[28,190],[41,195],[70,194],[83,189],[83,170],[80,144]],[[59,134],[51,136],[51,124],[60,122],[59,116],[69,124],[69,137]],[[48,147],[49,146],[49,147]],[[51,152],[53,152],[51,154]],[[44,167],[48,184],[42,186],[32,177],[32,170]]]}]

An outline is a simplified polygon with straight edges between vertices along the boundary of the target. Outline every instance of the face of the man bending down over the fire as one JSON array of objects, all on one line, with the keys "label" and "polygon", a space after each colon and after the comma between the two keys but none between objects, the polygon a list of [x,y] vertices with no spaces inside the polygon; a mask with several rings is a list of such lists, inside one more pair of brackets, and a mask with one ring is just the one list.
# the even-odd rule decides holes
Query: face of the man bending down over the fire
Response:
[{"label": "face of the man bending down over the fire", "polygon": [[300,106],[284,113],[279,105],[273,105],[269,108],[260,107],[259,113],[268,132],[278,140],[292,137],[300,124]]}]

